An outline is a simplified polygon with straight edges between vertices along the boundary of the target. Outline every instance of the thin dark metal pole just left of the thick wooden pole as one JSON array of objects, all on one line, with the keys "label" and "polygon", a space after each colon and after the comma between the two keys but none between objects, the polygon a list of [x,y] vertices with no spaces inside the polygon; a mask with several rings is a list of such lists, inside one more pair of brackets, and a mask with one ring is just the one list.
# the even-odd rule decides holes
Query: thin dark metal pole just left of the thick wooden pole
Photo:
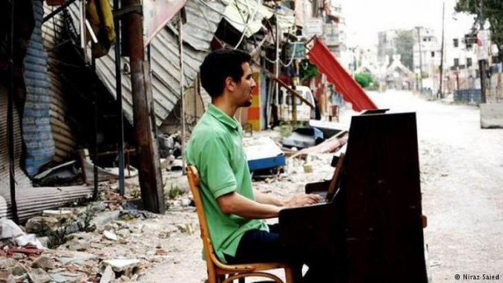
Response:
[{"label": "thin dark metal pole just left of the thick wooden pole", "polygon": [[[114,10],[119,10],[119,0],[114,0]],[[115,93],[117,115],[119,118],[119,193],[124,196],[124,112],[122,107],[122,74],[121,74],[121,21],[114,17],[115,29]]]}]

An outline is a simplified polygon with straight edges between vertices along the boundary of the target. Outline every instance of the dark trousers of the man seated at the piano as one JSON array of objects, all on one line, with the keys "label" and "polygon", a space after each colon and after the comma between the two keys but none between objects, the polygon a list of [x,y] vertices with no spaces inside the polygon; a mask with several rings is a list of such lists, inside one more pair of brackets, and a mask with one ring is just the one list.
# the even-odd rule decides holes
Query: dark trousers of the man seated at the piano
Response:
[{"label": "dark trousers of the man seated at the piano", "polygon": [[[293,254],[295,251],[287,251],[280,244],[279,225],[269,225],[269,232],[260,230],[247,231],[241,238],[236,255],[225,255],[229,264],[245,264],[252,262],[287,262],[297,265],[298,272],[302,264],[309,266],[309,270],[302,278],[302,282],[331,282],[329,280],[329,264],[322,255],[310,255],[299,258]],[[332,266],[333,267],[333,266]]]}]

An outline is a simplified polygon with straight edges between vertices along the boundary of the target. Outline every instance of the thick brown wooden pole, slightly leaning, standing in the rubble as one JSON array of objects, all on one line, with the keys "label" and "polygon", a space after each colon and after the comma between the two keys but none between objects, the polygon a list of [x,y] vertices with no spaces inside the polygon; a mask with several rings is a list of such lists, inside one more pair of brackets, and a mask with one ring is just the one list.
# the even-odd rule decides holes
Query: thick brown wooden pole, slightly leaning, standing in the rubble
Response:
[{"label": "thick brown wooden pole, slightly leaning, standing in the rubble", "polygon": [[[140,0],[124,0],[124,8],[141,5]],[[163,181],[152,115],[152,87],[150,66],[145,61],[143,47],[143,20],[139,12],[127,14],[127,50],[130,56],[133,95],[134,138],[139,161],[141,198],[144,208],[154,213],[164,213]]]}]

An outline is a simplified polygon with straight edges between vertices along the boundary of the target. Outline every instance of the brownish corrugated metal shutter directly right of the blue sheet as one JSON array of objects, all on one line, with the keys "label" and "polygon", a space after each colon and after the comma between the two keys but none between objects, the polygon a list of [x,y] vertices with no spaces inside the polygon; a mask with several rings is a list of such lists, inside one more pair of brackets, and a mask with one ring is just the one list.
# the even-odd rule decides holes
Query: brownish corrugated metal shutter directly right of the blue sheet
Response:
[{"label": "brownish corrugated metal shutter directly right of the blue sheet", "polygon": [[[45,15],[52,12],[54,7],[44,6]],[[67,111],[68,96],[65,96],[65,85],[61,78],[62,71],[58,63],[59,44],[61,44],[61,32],[63,21],[61,13],[52,17],[42,25],[42,38],[45,50],[48,52],[48,75],[50,78],[50,117],[52,137],[54,138],[54,158],[57,163],[73,158],[76,154],[76,135],[72,131],[72,125],[68,119],[71,113]]]}]

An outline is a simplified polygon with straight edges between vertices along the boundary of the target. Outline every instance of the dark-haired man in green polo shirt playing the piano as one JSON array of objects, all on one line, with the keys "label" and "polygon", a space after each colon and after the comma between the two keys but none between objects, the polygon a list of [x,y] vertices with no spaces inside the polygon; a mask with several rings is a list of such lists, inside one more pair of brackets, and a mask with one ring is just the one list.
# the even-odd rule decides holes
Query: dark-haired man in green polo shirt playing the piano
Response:
[{"label": "dark-haired man in green polo shirt playing the piano", "polygon": [[229,264],[287,260],[276,226],[263,218],[278,216],[285,207],[311,205],[316,195],[288,201],[271,198],[251,187],[243,150],[243,129],[233,118],[239,107],[251,105],[256,87],[249,54],[216,50],[201,65],[201,83],[212,103],[194,128],[186,157],[201,179],[201,198],[209,234],[219,260]]}]

